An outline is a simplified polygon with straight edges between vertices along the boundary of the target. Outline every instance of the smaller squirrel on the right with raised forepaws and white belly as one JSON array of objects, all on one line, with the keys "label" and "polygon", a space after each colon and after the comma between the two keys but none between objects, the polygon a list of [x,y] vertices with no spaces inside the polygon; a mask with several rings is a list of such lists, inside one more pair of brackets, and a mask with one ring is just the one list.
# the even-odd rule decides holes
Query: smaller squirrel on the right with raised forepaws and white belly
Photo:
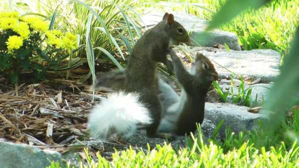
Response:
[{"label": "smaller squirrel on the right with raised forepaws and white belly", "polygon": [[212,82],[218,80],[218,73],[211,61],[201,53],[196,54],[191,73],[187,72],[175,53],[170,56],[176,78],[183,88],[178,97],[167,83],[159,79],[164,110],[158,131],[189,134],[196,131],[196,123],[203,122],[205,97]]}]

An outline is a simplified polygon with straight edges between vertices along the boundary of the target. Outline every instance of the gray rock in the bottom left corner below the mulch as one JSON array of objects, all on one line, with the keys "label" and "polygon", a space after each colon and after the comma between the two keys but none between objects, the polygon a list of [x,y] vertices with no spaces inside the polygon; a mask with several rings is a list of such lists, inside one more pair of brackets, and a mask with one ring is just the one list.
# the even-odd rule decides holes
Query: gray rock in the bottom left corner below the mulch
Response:
[{"label": "gray rock in the bottom left corner below the mulch", "polygon": [[0,168],[46,168],[61,160],[58,152],[25,144],[0,142],[0,149]]}]

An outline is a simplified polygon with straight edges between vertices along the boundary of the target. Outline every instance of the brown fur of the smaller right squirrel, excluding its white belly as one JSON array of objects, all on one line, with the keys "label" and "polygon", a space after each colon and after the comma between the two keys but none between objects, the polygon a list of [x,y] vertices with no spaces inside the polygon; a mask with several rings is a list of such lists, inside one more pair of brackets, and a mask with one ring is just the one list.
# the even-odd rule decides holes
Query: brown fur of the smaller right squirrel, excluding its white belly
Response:
[{"label": "brown fur of the smaller right squirrel, excluding its white belly", "polygon": [[201,53],[196,55],[195,74],[186,71],[175,53],[171,57],[176,77],[186,94],[186,101],[176,124],[176,134],[184,135],[194,132],[196,123],[203,122],[205,97],[212,82],[218,80],[218,73],[211,61]]}]

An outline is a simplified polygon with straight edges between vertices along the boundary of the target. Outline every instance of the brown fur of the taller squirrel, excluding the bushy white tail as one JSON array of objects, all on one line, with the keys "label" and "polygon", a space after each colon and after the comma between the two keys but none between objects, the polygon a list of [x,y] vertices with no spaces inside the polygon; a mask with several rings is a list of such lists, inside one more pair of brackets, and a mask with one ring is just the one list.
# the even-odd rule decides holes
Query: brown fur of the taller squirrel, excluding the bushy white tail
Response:
[{"label": "brown fur of the taller squirrel, excluding the bushy white tail", "polygon": [[[157,96],[157,63],[168,64],[166,53],[171,50],[170,45],[177,45],[180,42],[189,42],[186,30],[174,20],[172,14],[165,13],[163,20],[147,30],[136,42],[125,76],[121,72],[112,72],[108,76],[100,78],[101,82],[95,86],[104,84],[114,87],[112,89],[140,93],[140,100],[149,107],[153,119],[153,123],[147,128],[149,136],[156,135],[162,112],[162,104]],[[113,76],[114,74],[116,76]],[[113,82],[118,84],[113,84]]]}]

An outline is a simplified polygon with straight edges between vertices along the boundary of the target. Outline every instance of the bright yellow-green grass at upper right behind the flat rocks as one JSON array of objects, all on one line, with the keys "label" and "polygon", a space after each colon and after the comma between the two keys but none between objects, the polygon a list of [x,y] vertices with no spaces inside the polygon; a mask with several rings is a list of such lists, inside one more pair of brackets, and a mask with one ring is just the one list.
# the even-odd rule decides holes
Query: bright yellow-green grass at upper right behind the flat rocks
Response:
[{"label": "bright yellow-green grass at upper right behind the flat rocks", "polygon": [[[216,11],[224,5],[224,0],[204,1],[210,4],[210,9]],[[241,6],[246,6],[243,1]],[[221,29],[235,32],[245,50],[269,48],[279,51],[284,57],[299,25],[298,8],[298,0],[273,0],[258,10],[248,8],[230,22],[223,24]],[[207,19],[213,17],[209,12],[203,13],[202,16]],[[228,18],[223,17],[223,14],[219,16]]]}]

